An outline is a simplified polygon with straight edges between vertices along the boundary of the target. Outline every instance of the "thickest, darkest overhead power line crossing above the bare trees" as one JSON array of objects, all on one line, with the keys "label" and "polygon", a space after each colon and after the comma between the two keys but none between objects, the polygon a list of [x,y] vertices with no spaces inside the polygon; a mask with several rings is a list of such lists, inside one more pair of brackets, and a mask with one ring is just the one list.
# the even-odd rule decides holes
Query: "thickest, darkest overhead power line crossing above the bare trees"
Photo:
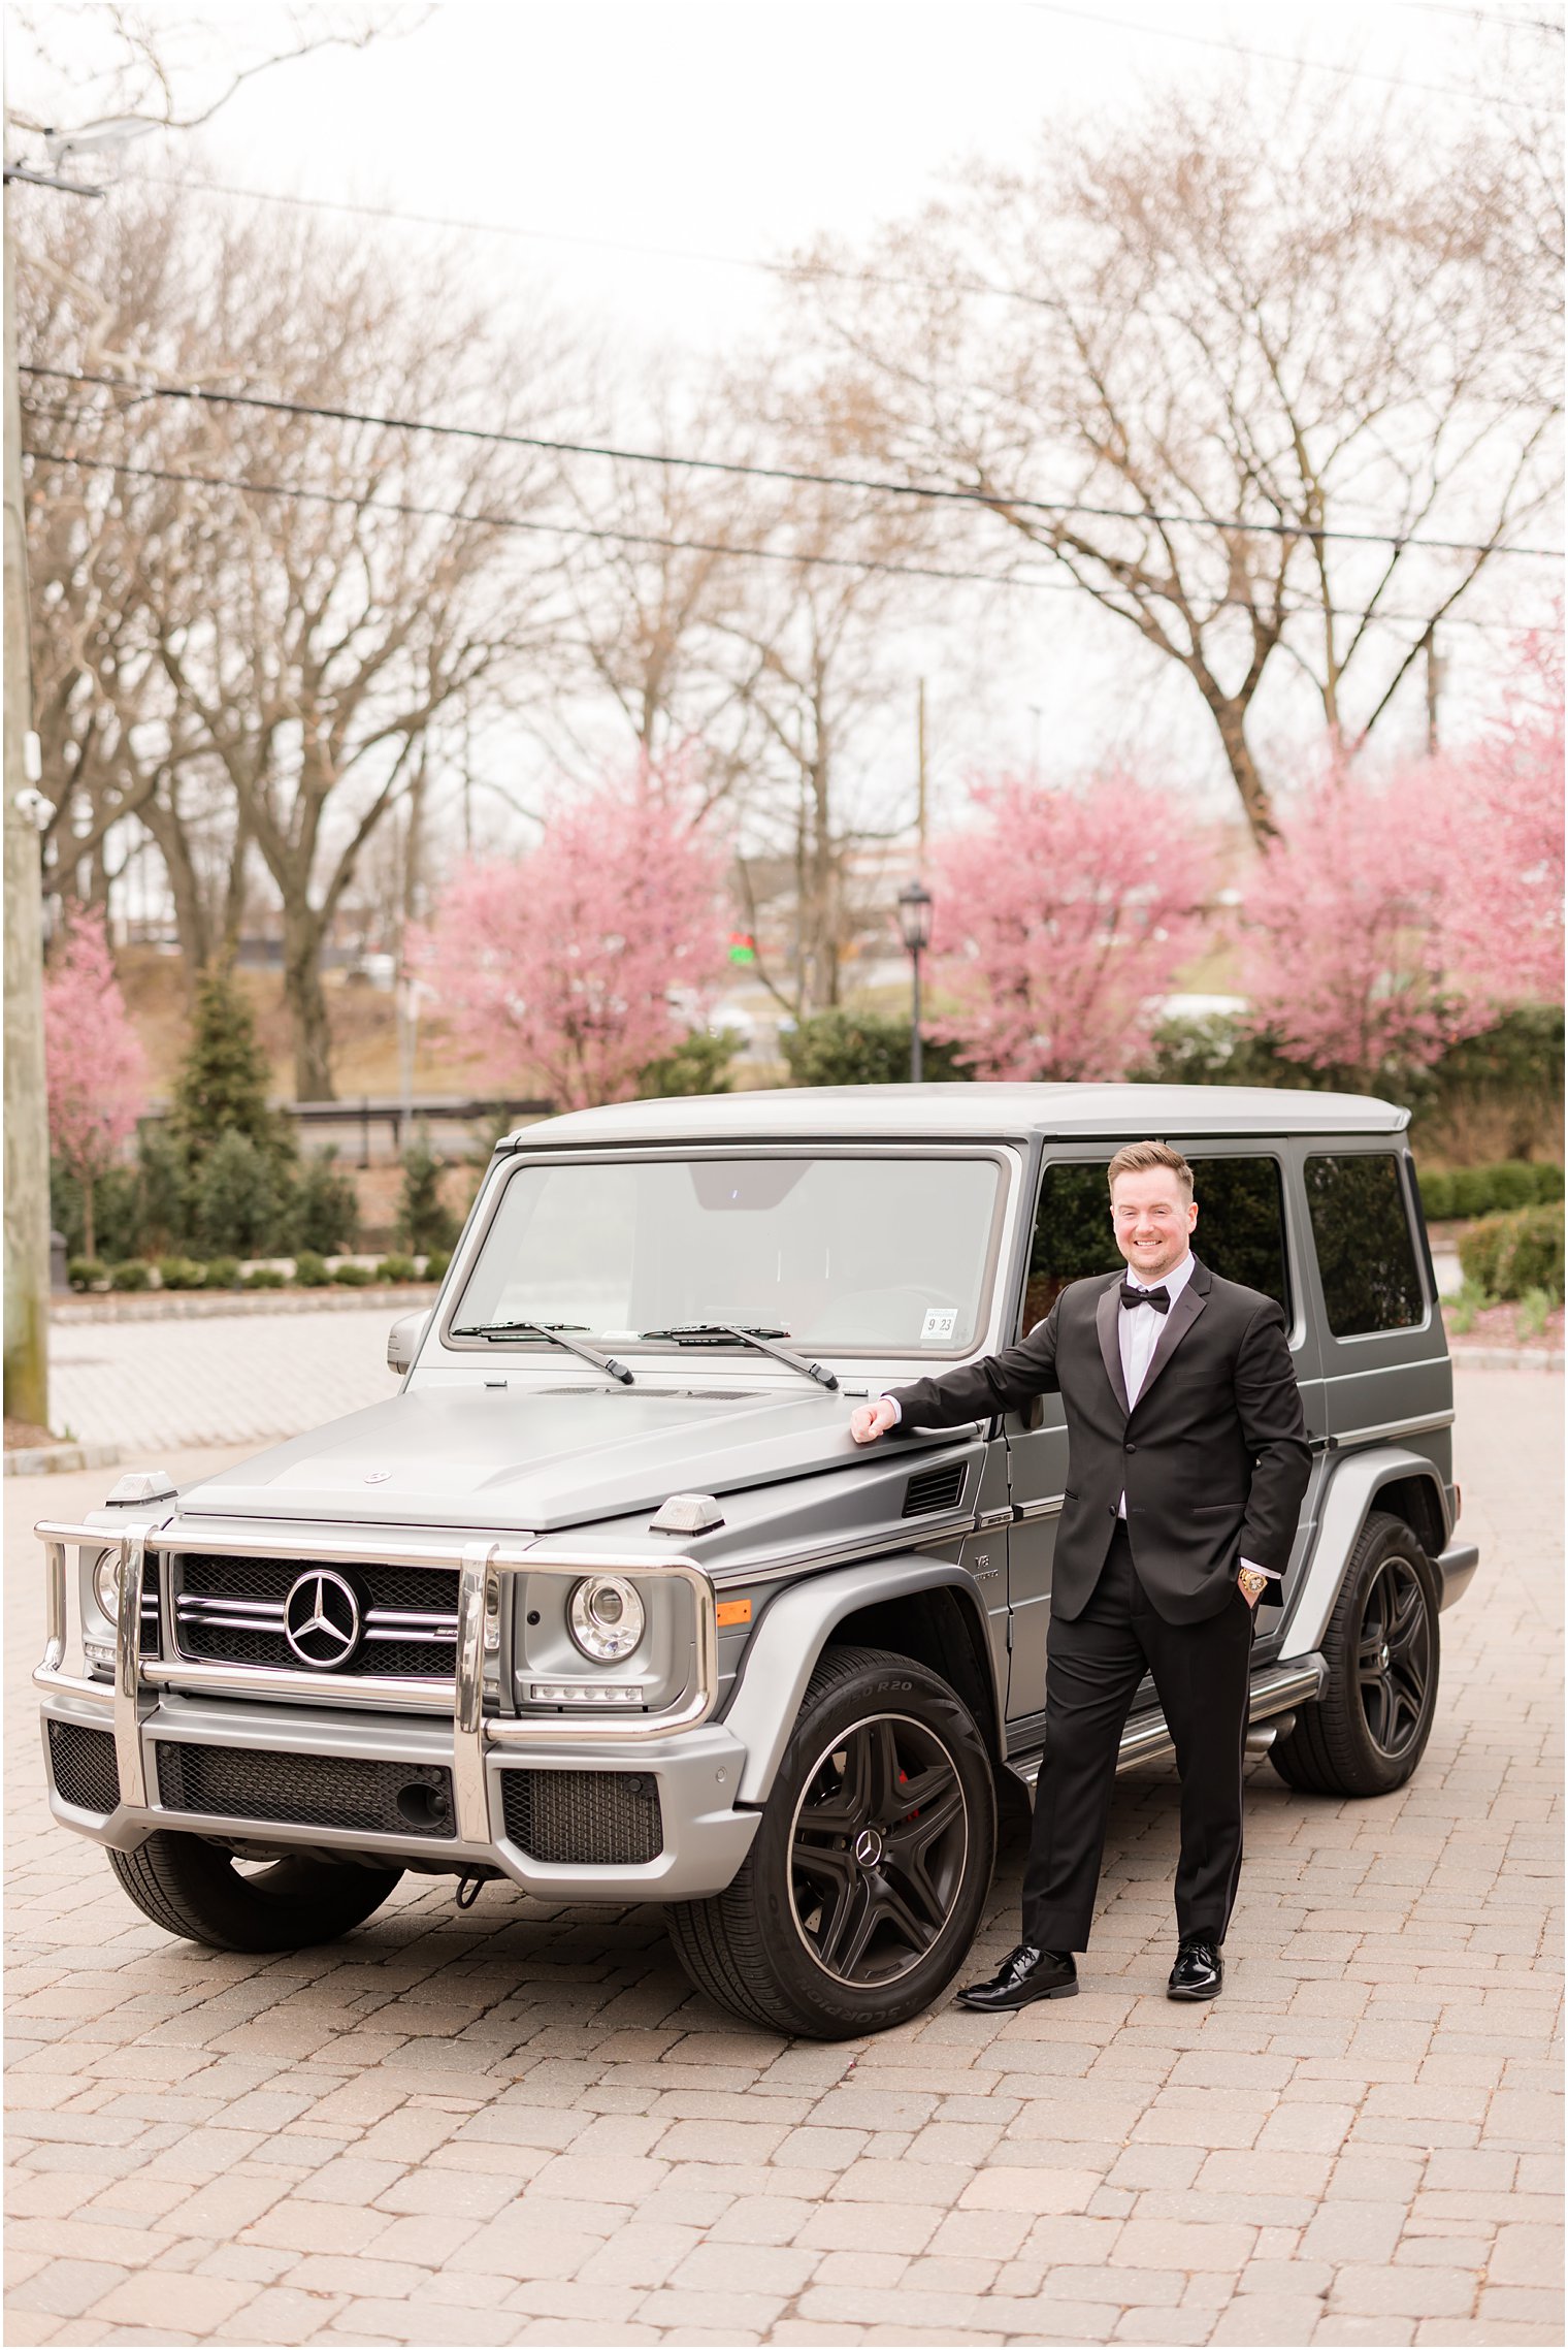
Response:
[{"label": "thickest, darkest overhead power line crossing above the bare trees", "polygon": [[1401,552],[1406,548],[1420,548],[1434,555],[1523,555],[1540,562],[1561,562],[1556,548],[1512,548],[1474,538],[1418,538],[1401,531],[1331,531],[1305,522],[1244,522],[1237,515],[1162,515],[1157,510],[1127,505],[1084,505],[1073,498],[1019,498],[1009,491],[946,489],[927,482],[887,482],[876,475],[807,472],[796,465],[744,465],[737,458],[678,456],[655,449],[617,449],[608,442],[563,442],[547,439],[538,432],[498,432],[488,425],[437,423],[425,416],[378,416],[364,409],[340,409],[307,400],[279,400],[265,392],[218,392],[181,383],[131,383],[120,376],[77,374],[66,367],[31,367],[26,362],[21,374],[35,376],[45,383],[92,383],[106,390],[131,392],[136,400],[185,400],[197,407],[261,409],[270,416],[315,416],[324,423],[373,425],[380,432],[430,432],[439,439],[488,442],[500,449],[535,449],[547,456],[613,458],[624,465],[664,465],[685,472],[718,472],[749,482],[791,482],[805,489],[857,489],[871,491],[873,496],[922,498],[937,505],[979,505],[993,515],[1007,515],[1014,510],[1026,515],[1084,515],[1096,522],[1153,522],[1160,529],[1246,531],[1263,538],[1307,538],[1314,543],[1331,540],[1343,545],[1399,548]]}]

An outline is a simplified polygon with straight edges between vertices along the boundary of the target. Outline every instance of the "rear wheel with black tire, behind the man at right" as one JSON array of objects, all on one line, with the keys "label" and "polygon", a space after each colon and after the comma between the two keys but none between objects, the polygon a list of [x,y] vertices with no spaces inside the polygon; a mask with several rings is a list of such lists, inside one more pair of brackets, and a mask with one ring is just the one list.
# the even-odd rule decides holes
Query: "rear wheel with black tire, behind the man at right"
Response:
[{"label": "rear wheel with black tire, behind the man at right", "polygon": [[1439,1676],[1437,1574],[1404,1518],[1361,1528],[1324,1659],[1324,1694],[1268,1758],[1312,1795],[1392,1795],[1427,1748]]}]

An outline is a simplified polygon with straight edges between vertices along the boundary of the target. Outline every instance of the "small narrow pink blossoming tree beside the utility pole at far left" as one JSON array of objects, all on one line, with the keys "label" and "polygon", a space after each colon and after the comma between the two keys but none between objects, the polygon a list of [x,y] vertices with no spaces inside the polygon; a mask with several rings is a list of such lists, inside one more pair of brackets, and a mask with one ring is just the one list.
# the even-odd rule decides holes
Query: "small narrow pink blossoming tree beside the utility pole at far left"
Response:
[{"label": "small narrow pink blossoming tree beside the utility pole at far left", "polygon": [[45,978],[49,1144],[82,1187],[82,1246],[94,1255],[92,1194],[136,1130],[148,1065],[124,1010],[103,914],[73,914]]}]

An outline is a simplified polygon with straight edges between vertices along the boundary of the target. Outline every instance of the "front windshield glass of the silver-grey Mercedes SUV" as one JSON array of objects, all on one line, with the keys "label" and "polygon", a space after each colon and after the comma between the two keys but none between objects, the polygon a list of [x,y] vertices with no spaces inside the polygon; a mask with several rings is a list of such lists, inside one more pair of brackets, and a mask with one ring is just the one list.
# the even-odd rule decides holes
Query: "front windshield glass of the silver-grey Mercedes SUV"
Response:
[{"label": "front windshield glass of the silver-grey Mercedes SUV", "polygon": [[1000,1187],[991,1156],[523,1163],[451,1328],[547,1321],[624,1347],[749,1323],[845,1354],[965,1354]]}]

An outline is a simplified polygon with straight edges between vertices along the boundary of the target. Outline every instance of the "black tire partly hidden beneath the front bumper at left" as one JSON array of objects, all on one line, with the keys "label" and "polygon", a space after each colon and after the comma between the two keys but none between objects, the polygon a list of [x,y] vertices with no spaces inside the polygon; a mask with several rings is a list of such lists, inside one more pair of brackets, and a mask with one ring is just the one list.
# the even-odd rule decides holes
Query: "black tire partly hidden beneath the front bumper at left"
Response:
[{"label": "black tire partly hidden beneath the front bumper at left", "polygon": [[359,1868],[284,1852],[256,1875],[200,1835],[160,1831],[136,1852],[110,1852],[127,1894],[153,1925],[209,1950],[305,1950],[338,1941],[380,1908],[401,1868]]}]

